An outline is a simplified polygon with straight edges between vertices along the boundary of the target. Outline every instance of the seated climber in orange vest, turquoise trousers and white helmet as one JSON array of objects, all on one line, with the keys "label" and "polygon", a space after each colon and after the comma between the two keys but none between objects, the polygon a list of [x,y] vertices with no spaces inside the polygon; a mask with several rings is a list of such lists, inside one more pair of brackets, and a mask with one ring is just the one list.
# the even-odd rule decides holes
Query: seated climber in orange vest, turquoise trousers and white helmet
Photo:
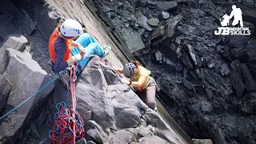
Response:
[{"label": "seated climber in orange vest, turquoise trousers and white helmet", "polygon": [[97,54],[104,58],[110,50],[110,46],[102,48],[90,34],[83,33],[81,24],[74,19],[67,19],[58,25],[49,39],[49,53],[55,73],[65,70],[72,62],[84,67],[90,59],[86,56]]}]

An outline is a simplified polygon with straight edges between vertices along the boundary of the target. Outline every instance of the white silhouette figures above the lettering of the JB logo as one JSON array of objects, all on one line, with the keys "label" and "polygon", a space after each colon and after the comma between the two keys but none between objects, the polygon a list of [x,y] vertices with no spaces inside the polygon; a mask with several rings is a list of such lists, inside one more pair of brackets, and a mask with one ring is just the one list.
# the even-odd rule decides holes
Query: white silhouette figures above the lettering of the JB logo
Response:
[{"label": "white silhouette figures above the lettering of the JB logo", "polygon": [[222,18],[223,20],[220,19],[221,25],[222,26],[229,26],[230,19],[234,17],[234,21],[232,22],[232,26],[236,26],[238,22],[240,23],[240,26],[243,27],[243,22],[242,22],[242,10],[240,8],[237,8],[237,6],[233,5],[232,6],[232,11],[230,13],[230,16],[225,14]]}]

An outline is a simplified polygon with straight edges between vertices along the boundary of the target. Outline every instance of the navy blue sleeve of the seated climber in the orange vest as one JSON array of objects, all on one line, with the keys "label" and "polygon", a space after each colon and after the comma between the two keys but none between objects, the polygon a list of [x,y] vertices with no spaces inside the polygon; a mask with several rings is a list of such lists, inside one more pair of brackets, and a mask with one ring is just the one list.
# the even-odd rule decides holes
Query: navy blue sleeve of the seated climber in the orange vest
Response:
[{"label": "navy blue sleeve of the seated climber in the orange vest", "polygon": [[65,52],[66,52],[66,44],[62,42],[58,42],[54,44],[54,50],[56,53],[55,61],[54,61],[54,72],[58,73],[62,70],[65,70],[68,66],[66,61],[63,61]]}]

